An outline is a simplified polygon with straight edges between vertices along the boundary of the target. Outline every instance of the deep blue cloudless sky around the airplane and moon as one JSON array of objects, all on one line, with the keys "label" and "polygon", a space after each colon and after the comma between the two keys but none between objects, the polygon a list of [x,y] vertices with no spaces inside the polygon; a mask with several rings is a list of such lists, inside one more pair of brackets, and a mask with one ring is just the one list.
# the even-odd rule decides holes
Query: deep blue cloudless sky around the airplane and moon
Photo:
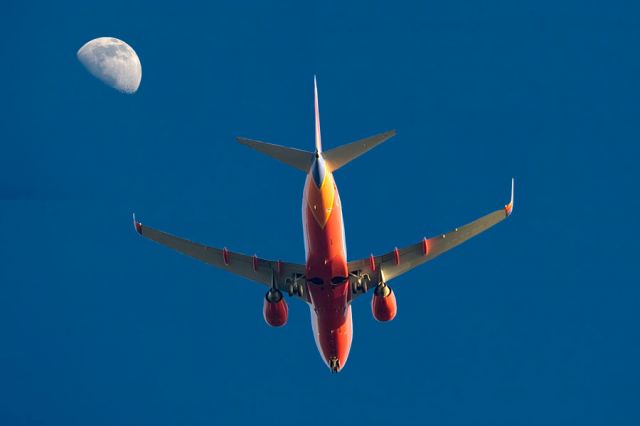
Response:
[{"label": "deep blue cloudless sky around the airplane and moon", "polygon": [[[40,3],[40,4],[38,4]],[[91,4],[89,4],[91,3]],[[20,2],[0,14],[0,424],[640,424],[640,6],[623,1]],[[133,95],[76,51],[142,61]],[[506,222],[354,303],[343,372],[306,306],[140,238],[303,262],[312,149],[398,135],[336,173],[351,259]]]}]

